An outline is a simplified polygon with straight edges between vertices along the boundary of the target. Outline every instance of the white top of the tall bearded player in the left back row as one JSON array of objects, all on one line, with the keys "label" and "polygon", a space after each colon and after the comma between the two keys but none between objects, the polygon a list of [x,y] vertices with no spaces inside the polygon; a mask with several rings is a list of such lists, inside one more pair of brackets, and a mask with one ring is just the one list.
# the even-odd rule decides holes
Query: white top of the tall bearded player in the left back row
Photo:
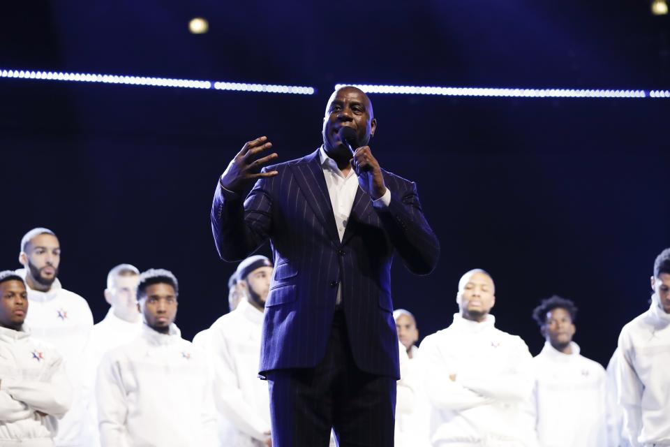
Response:
[{"label": "white top of the tall bearded player in the left back row", "polygon": [[[26,270],[16,270],[23,279]],[[56,445],[59,447],[89,447],[82,444],[85,402],[82,399],[82,372],[84,371],[84,349],[93,328],[93,314],[84,298],[66,291],[56,279],[48,292],[33,290],[26,284],[28,291],[29,325],[33,337],[44,340],[54,346],[65,362],[65,369],[73,399],[70,411],[60,420]]]}]

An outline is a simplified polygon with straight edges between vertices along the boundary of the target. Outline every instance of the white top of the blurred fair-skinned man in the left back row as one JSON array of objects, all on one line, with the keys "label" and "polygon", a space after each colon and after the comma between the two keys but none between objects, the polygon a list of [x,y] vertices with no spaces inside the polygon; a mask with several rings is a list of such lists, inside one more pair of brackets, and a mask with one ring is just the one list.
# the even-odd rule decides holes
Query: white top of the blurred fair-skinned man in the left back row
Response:
[{"label": "white top of the blurred fair-skinned man in the left back row", "polygon": [[85,427],[83,443],[87,447],[100,446],[98,434],[98,409],[96,406],[96,374],[100,362],[109,351],[128,344],[140,336],[142,318],[138,315],[137,322],[122,320],[110,308],[105,318],[91,329],[91,337],[86,348],[83,398],[86,407],[87,427]]}]

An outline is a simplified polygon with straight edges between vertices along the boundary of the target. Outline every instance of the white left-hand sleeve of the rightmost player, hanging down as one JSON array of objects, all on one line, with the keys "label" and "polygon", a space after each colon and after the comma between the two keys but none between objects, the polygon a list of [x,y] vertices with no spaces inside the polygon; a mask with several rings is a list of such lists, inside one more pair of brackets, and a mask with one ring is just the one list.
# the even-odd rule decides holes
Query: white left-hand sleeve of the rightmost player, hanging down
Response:
[{"label": "white left-hand sleeve of the rightmost player, hanging down", "polygon": [[616,360],[616,385],[619,403],[623,406],[623,428],[625,437],[633,447],[639,446],[637,438],[642,431],[642,390],[644,385],[635,372],[634,356],[630,337],[624,330],[619,335],[619,356]]}]

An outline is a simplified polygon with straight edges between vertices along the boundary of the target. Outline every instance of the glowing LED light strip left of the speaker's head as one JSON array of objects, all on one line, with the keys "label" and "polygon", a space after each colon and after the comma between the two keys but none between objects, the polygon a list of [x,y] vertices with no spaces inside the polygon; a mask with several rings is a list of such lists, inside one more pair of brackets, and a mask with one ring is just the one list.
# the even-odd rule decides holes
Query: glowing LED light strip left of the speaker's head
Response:
[{"label": "glowing LED light strip left of the speaker's head", "polygon": [[0,78],[95,82],[102,84],[144,85],[179,89],[216,89],[228,91],[259,91],[279,94],[314,94],[313,87],[295,85],[246,84],[244,82],[211,82],[191,79],[148,78],[145,76],[97,75],[91,73],[61,73],[58,71],[27,71],[0,69]]}]

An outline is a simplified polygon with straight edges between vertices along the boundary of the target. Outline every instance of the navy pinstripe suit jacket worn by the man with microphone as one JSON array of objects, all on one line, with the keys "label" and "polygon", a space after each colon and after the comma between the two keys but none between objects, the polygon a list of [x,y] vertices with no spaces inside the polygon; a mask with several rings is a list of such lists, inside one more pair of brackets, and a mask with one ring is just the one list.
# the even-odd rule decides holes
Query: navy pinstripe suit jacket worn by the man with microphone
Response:
[{"label": "navy pinstripe suit jacket worn by the man with microphone", "polygon": [[392,316],[394,251],[410,271],[428,274],[440,245],[424,218],[414,183],[384,171],[386,210],[358,188],[342,242],[319,152],[266,170],[244,200],[219,184],[211,209],[221,258],[237,261],[269,238],[274,274],[265,307],[260,372],[314,367],[324,356],[341,282],[352,354],[365,372],[399,378]]}]

